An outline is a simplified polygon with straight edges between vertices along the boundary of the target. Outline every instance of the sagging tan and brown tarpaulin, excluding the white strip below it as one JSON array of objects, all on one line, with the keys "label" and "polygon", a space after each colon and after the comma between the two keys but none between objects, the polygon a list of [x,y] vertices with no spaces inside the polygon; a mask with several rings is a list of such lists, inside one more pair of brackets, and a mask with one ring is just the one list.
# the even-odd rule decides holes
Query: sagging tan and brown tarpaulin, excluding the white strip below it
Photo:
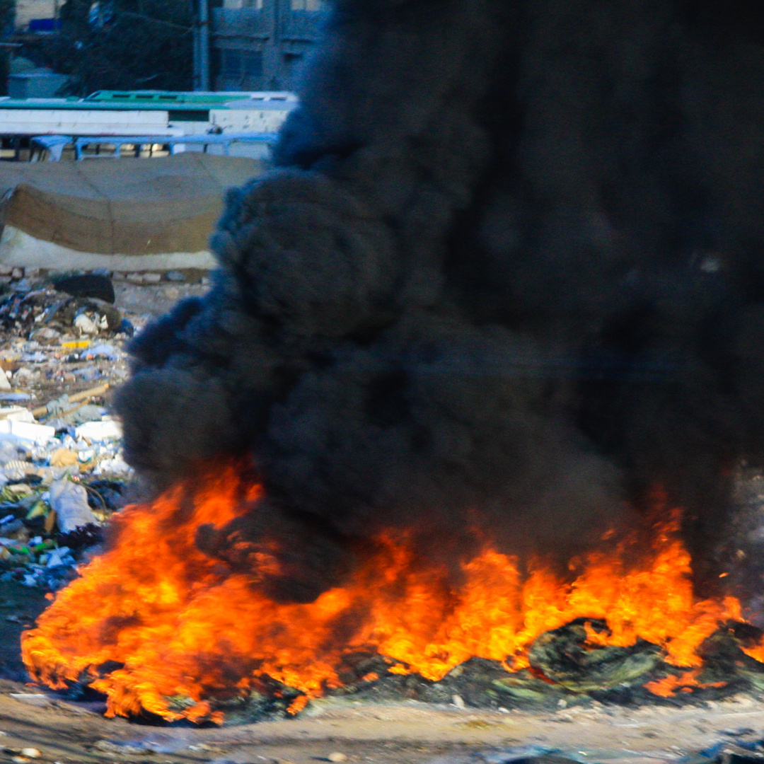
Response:
[{"label": "sagging tan and brown tarpaulin, excluding the white strip below it", "polygon": [[198,152],[154,159],[2,162],[2,222],[81,252],[196,252],[223,193],[261,172],[258,160]]}]

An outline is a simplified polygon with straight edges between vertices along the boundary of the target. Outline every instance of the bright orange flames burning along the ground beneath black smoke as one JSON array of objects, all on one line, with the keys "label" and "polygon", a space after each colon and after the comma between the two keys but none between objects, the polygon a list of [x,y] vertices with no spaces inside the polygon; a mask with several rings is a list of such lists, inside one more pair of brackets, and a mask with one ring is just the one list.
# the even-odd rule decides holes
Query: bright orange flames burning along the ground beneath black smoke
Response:
[{"label": "bright orange flames burning along the ground beneath black smoke", "polygon": [[592,552],[573,581],[541,562],[521,575],[516,558],[486,546],[465,562],[454,591],[446,571],[422,569],[405,535],[387,533],[342,588],[311,604],[278,604],[258,593],[251,575],[231,572],[194,543],[199,526],[228,523],[260,495],[230,465],[190,497],[178,486],[122,510],[112,548],[24,633],[33,678],[52,688],[84,681],[106,695],[109,716],[144,709],[167,720],[221,720],[210,701],[270,678],[301,693],[296,712],[341,685],[338,668],[352,652],[376,651],[390,671],[430,680],[472,656],[516,671],[539,634],[584,617],[609,627],[589,628],[591,646],[646,639],[689,670],[671,687],[656,685],[664,694],[692,683],[698,646],[720,623],[740,620],[733,597],[694,598],[678,512],[665,507],[648,549],[633,538],[610,555]]}]

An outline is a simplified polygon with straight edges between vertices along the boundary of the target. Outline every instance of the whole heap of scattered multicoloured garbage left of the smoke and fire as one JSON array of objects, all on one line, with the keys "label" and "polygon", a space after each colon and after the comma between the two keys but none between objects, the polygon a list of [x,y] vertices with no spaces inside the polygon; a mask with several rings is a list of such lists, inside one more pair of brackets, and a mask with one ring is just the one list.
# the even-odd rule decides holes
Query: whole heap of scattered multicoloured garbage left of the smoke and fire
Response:
[{"label": "whole heap of scattered multicoloured garbage left of the smoke and fire", "polygon": [[13,274],[0,290],[0,581],[55,591],[131,475],[105,404],[135,319],[99,274]]}]

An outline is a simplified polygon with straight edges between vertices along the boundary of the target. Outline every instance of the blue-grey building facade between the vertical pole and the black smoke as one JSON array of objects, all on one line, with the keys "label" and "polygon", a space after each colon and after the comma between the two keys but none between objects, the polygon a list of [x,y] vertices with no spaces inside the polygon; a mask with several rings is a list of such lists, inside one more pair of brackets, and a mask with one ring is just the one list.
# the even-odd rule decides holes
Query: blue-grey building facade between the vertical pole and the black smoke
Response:
[{"label": "blue-grey building facade between the vertical pole and the black smoke", "polygon": [[322,0],[224,0],[212,10],[215,90],[291,90],[319,34]]}]

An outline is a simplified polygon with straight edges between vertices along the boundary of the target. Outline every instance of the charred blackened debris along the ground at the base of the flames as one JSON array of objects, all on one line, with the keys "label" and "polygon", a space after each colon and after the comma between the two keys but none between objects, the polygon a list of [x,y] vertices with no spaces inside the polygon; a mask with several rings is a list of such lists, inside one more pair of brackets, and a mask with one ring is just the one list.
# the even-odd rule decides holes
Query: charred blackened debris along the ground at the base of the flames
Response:
[{"label": "charred blackened debris along the ground at the base of the flames", "polygon": [[[590,622],[591,623],[591,622]],[[600,629],[604,623],[594,622]],[[397,663],[373,653],[345,656],[340,677],[342,688],[328,689],[325,697],[311,701],[331,707],[336,702],[426,704],[476,708],[502,713],[513,709],[536,713],[576,707],[659,705],[714,707],[716,701],[747,695],[764,699],[764,665],[740,649],[758,643],[762,633],[751,626],[721,626],[701,649],[702,669],[688,671],[663,661],[662,651],[639,640],[628,648],[585,645],[583,620],[544,633],[529,652],[530,667],[508,673],[496,661],[472,658],[458,665],[440,681],[416,674],[390,672]],[[77,697],[85,688],[73,688]],[[213,707],[225,714],[225,724],[289,717],[290,704],[299,692],[265,679],[259,690],[218,698]],[[183,698],[175,699],[182,707]],[[161,724],[160,717],[154,721]],[[573,720],[572,718],[570,719]]]}]

